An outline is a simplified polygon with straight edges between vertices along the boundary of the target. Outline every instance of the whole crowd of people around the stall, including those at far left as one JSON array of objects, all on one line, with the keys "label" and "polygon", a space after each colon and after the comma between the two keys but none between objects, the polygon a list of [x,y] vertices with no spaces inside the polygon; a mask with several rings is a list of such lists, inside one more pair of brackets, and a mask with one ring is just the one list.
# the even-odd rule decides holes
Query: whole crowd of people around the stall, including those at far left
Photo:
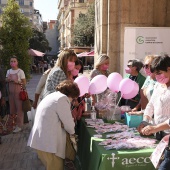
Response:
[{"label": "whole crowd of people around the stall, including those at far left", "polygon": [[[90,79],[97,75],[109,76],[110,58],[101,54],[90,73]],[[14,133],[22,130],[23,110],[19,99],[21,85],[26,85],[25,74],[18,66],[17,57],[10,59],[6,78],[0,70],[1,105],[5,104],[6,84],[10,105],[10,114],[17,114]],[[140,71],[144,69],[147,77]],[[168,55],[149,55],[140,60],[133,59],[125,68],[126,77],[139,84],[138,94],[121,105],[131,108],[129,114],[143,114],[143,121],[138,127],[142,135],[159,132],[159,139],[170,132],[170,57]],[[83,74],[83,63],[73,50],[63,50],[58,60],[46,69],[37,85],[33,107],[36,109],[35,121],[31,130],[28,146],[34,148],[40,160],[48,170],[63,170],[65,159],[66,133],[73,135],[85,112],[85,98],[91,99],[91,105],[100,101],[107,90],[98,95],[85,94],[80,91],[75,78]],[[157,133],[158,134],[158,133]]]}]

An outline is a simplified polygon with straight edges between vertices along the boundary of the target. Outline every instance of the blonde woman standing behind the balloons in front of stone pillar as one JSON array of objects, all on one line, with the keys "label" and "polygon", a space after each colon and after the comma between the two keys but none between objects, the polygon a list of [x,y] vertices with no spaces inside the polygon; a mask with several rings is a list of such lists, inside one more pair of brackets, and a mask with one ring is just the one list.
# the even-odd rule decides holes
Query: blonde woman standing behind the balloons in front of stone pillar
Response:
[{"label": "blonde woman standing behind the balloons in front of stone pillar", "polygon": [[[95,63],[95,69],[93,69],[90,73],[90,80],[92,80],[97,75],[105,75],[106,77],[109,76],[110,72],[109,68],[109,60],[110,58],[106,54],[101,54]],[[107,90],[106,90],[107,91]],[[106,92],[105,91],[105,92]],[[92,105],[94,106],[97,101],[101,99],[101,97],[105,94],[105,92],[99,95],[92,95],[91,101]]]}]

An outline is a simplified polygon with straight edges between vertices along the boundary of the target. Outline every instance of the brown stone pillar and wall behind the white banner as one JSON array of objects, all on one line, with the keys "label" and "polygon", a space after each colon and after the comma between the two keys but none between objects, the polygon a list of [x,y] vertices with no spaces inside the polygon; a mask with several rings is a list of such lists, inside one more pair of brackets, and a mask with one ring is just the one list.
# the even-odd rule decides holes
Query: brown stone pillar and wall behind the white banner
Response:
[{"label": "brown stone pillar and wall behind the white banner", "polygon": [[170,27],[170,0],[95,0],[95,59],[107,53],[123,72],[125,27]]}]

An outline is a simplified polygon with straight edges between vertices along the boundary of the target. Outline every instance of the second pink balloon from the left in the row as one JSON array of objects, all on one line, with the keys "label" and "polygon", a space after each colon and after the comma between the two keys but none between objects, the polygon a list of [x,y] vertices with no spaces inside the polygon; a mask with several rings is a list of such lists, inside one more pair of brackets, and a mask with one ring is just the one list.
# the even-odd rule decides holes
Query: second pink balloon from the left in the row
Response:
[{"label": "second pink balloon from the left in the row", "polygon": [[107,89],[107,77],[104,75],[97,75],[90,81],[89,93],[100,94]]}]

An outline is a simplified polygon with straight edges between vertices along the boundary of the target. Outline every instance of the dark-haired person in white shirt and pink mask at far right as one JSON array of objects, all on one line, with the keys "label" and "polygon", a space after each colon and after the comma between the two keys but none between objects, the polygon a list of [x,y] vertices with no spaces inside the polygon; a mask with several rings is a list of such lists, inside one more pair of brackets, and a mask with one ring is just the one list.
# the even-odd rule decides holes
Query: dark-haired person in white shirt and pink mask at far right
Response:
[{"label": "dark-haired person in white shirt and pink mask at far right", "polygon": [[[156,83],[152,97],[146,106],[143,122],[138,127],[141,134],[153,116],[155,125],[170,119],[170,57],[168,55],[156,57],[150,68],[151,72],[155,73],[158,83]],[[170,130],[161,131],[157,139],[161,139],[167,133],[170,133]]]}]

